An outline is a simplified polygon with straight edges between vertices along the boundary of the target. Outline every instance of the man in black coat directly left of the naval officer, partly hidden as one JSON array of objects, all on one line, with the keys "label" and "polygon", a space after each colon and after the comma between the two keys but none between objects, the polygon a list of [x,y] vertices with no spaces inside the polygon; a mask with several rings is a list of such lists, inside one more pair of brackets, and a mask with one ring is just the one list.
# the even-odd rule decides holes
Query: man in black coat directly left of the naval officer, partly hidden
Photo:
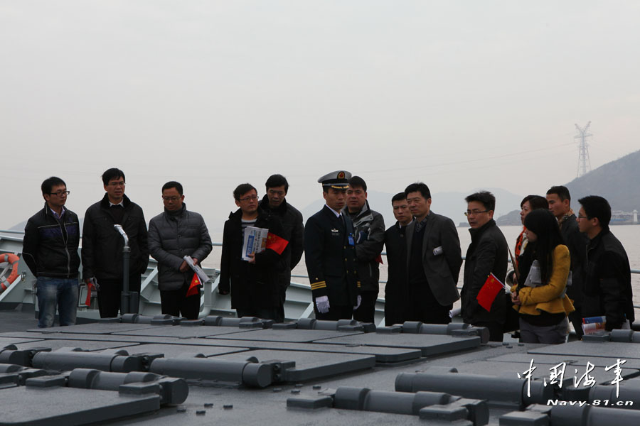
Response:
[{"label": "man in black coat directly left of the naval officer, partly hidden", "polygon": [[280,304],[278,306],[277,322],[284,321],[284,301],[287,300],[287,288],[291,283],[291,270],[296,267],[304,251],[304,225],[302,213],[287,203],[289,182],[283,175],[271,175],[267,182],[267,194],[262,197],[260,208],[270,214],[275,214],[282,222],[282,238],[289,241],[287,249],[280,256],[280,272],[278,273]]}]

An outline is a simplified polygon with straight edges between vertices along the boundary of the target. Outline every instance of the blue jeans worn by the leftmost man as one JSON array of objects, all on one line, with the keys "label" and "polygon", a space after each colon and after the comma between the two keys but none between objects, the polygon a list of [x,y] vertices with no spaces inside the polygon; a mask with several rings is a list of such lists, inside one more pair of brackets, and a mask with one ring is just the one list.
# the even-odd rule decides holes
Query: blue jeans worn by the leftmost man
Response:
[{"label": "blue jeans worn by the leftmost man", "polygon": [[78,310],[78,278],[38,277],[38,328],[53,327],[58,307],[60,325],[75,324]]}]

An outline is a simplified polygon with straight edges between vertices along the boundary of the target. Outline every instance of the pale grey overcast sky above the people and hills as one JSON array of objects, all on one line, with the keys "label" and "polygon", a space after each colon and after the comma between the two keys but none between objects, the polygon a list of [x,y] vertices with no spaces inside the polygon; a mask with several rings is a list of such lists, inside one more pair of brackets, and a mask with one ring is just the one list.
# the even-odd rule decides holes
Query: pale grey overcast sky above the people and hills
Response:
[{"label": "pale grey overcast sky above the people and hills", "polygon": [[272,173],[301,209],[338,169],[543,193],[575,178],[575,123],[592,168],[639,148],[639,22],[637,1],[0,0],[0,228],[50,175],[82,216],[113,166],[147,219],[175,179],[212,229]]}]

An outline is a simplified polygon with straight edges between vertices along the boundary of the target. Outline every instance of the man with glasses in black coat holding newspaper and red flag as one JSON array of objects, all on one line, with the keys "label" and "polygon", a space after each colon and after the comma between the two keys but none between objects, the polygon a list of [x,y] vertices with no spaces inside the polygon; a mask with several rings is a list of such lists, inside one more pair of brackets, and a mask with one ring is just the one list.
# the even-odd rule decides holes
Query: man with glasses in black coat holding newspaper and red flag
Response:
[{"label": "man with glasses in black coat holding newspaper and red flag", "polygon": [[[231,293],[231,307],[239,318],[279,321],[278,273],[282,271],[282,253],[288,246],[282,237],[282,222],[277,215],[260,208],[257,191],[249,183],[238,185],[233,198],[239,208],[225,222],[218,292]],[[265,250],[250,253],[245,261],[242,246],[249,226],[268,229],[269,237]]]}]

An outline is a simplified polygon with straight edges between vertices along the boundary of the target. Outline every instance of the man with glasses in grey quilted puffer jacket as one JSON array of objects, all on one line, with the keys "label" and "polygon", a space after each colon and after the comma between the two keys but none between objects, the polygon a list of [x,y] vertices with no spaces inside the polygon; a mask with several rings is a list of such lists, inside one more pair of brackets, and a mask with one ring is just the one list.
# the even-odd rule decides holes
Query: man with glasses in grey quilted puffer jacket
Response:
[{"label": "man with glasses in grey quilted puffer jacket", "polygon": [[158,261],[158,283],[162,313],[197,320],[200,289],[187,296],[193,270],[184,260],[191,256],[199,264],[213,246],[202,216],[189,212],[184,204],[182,185],[166,182],[162,187],[164,213],[149,222],[149,252]]}]

